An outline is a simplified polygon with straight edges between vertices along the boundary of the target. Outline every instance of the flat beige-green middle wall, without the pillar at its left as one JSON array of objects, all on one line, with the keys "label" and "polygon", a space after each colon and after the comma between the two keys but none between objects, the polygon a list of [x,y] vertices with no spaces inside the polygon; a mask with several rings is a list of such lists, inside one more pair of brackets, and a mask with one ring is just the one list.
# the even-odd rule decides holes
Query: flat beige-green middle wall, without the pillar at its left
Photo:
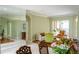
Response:
[{"label": "flat beige-green middle wall, without the pillar at its left", "polygon": [[35,37],[36,34],[42,32],[49,32],[49,19],[42,16],[31,16],[32,20],[32,36]]}]

